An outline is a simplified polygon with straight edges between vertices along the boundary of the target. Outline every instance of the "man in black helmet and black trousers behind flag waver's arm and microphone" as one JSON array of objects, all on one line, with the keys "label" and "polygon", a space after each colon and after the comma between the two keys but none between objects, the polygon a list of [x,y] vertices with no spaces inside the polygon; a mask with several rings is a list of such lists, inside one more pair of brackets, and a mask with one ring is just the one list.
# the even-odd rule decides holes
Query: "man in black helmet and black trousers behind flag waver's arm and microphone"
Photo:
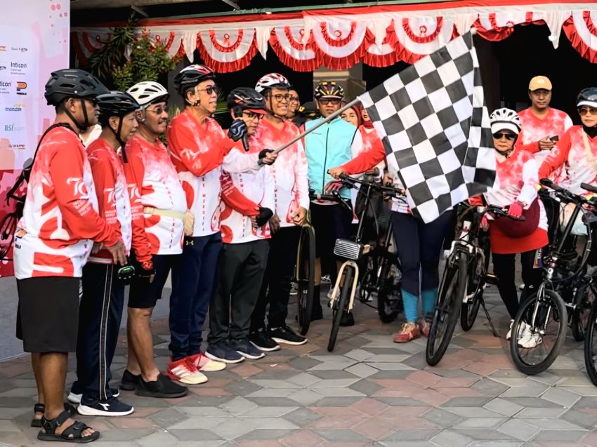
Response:
[{"label": "man in black helmet and black trousers behind flag waver's arm and microphone", "polygon": [[[265,114],[263,96],[252,88],[235,88],[228,95],[233,117],[247,126],[249,154],[265,150],[254,136]],[[242,143],[232,152],[244,153]],[[242,196],[242,201],[239,201]],[[268,261],[268,220],[273,216],[274,185],[267,169],[222,173],[221,232],[216,291],[209,307],[209,347],[206,355],[225,363],[261,359],[265,354],[249,342],[251,313],[259,297]]]}]

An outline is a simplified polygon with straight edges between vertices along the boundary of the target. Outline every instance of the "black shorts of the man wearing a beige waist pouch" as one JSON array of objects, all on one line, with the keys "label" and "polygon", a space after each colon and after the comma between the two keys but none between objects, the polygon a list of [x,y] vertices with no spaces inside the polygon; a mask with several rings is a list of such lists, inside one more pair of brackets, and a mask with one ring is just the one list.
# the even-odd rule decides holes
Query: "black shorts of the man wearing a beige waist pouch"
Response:
[{"label": "black shorts of the man wearing a beige waist pouch", "polygon": [[[179,258],[181,258],[181,255],[152,255],[155,278],[151,283],[143,278],[136,277],[133,279],[129,290],[129,307],[133,309],[155,307],[157,300],[162,298],[162,291],[170,269],[174,262],[178,262]],[[131,262],[135,267],[138,267],[138,263],[133,256],[131,256]]]}]

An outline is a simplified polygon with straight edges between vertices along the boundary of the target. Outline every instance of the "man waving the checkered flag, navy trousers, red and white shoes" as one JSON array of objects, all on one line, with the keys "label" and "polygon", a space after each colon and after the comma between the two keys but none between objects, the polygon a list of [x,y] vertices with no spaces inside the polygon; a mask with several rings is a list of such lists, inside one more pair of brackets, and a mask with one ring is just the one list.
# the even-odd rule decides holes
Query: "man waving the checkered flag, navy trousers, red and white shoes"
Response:
[{"label": "man waving the checkered flag, navy trousers, red and white shoes", "polygon": [[[195,216],[195,229],[185,238],[181,262],[172,271],[169,317],[172,357],[168,374],[185,381],[197,368],[199,371],[225,368],[224,363],[210,360],[201,351],[203,324],[222,248],[220,177],[223,168],[230,173],[259,171],[260,154],[230,150],[234,142],[211,117],[216,112],[219,88],[209,67],[190,65],[176,75],[174,84],[186,107],[168,128],[168,144],[187,206]],[[234,135],[245,131],[242,119],[232,123],[230,132]],[[275,155],[270,155],[266,162],[273,159]]]}]

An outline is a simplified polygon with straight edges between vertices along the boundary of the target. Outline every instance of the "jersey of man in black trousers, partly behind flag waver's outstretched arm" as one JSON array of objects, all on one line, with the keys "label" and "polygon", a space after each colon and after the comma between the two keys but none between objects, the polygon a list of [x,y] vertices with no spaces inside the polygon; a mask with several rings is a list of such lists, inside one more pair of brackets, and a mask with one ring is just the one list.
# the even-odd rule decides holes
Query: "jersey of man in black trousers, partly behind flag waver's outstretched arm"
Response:
[{"label": "jersey of man in black trousers, partly behind flag waver's outstretched arm", "polygon": [[[251,153],[258,154],[263,145],[249,137]],[[244,152],[241,142],[237,142],[230,152]],[[276,160],[277,163],[277,160]],[[274,182],[267,169],[246,173],[222,173],[222,201],[220,220],[224,243],[243,243],[270,239],[270,224],[257,229],[251,225],[251,216],[258,215],[259,206],[274,211]]]}]

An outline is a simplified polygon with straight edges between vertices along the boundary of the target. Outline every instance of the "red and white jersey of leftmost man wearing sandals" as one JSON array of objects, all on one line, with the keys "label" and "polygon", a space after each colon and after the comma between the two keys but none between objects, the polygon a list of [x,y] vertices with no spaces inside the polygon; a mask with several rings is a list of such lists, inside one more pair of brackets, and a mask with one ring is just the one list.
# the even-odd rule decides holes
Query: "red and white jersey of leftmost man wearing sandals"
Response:
[{"label": "red and white jersey of leftmost man wearing sandals", "polygon": [[81,140],[70,129],[52,129],[39,145],[15,232],[17,279],[81,277],[93,241],[113,246],[119,240],[98,209]]}]

